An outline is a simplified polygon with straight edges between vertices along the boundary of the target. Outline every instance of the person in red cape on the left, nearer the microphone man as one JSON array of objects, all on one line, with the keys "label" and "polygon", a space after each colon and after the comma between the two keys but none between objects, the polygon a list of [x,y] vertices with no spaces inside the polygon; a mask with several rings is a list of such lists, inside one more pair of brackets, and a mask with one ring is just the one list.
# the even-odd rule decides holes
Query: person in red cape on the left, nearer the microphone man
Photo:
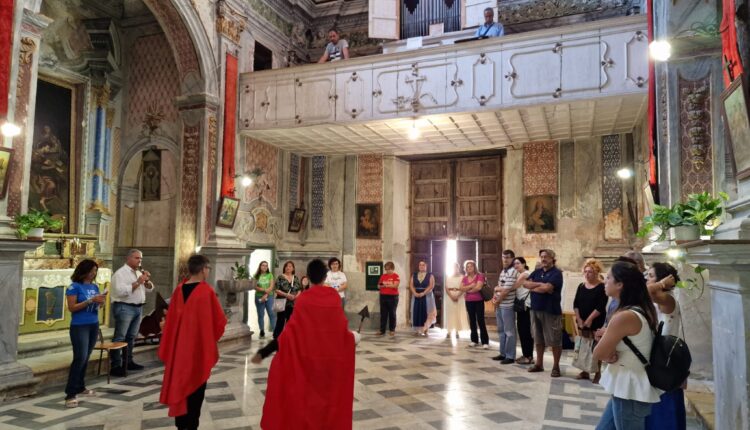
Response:
[{"label": "person in red cape on the left, nearer the microphone man", "polygon": [[190,278],[177,286],[169,304],[159,358],[164,381],[159,402],[169,405],[178,429],[197,429],[206,382],[219,360],[217,342],[227,324],[216,292],[206,282],[209,260],[188,259]]}]

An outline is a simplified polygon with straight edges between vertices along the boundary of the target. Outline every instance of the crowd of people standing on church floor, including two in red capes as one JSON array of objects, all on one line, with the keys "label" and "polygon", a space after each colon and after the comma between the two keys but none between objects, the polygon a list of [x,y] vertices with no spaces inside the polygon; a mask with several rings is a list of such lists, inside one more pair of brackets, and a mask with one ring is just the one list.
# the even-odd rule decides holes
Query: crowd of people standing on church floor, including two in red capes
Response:
[{"label": "crowd of people standing on church floor, including two in red capes", "polygon": [[[491,358],[502,365],[529,365],[531,373],[543,372],[544,353],[550,348],[550,375],[560,377],[563,275],[556,266],[553,250],[542,249],[538,257],[537,267],[532,271],[526,260],[517,257],[512,250],[502,252],[502,270],[490,299],[495,307],[499,350],[498,355]],[[115,337],[129,345],[125,354],[113,358],[116,363],[113,373],[123,367],[142,368],[133,362],[130,346],[134,337],[131,333],[137,332],[131,329],[133,315],[140,315],[145,294],[153,289],[150,274],[140,268],[142,258],[140,251],[131,250],[123,267],[113,275]],[[224,332],[226,318],[213,287],[206,282],[211,268],[208,258],[193,255],[187,265],[189,277],[172,295],[159,348],[159,357],[165,364],[160,401],[169,405],[169,415],[175,417],[178,428],[197,428],[206,382],[218,361],[217,342]],[[66,292],[68,309],[72,313],[70,337],[73,344],[73,362],[65,387],[67,407],[78,406],[81,396],[95,394],[86,388],[84,376],[89,356],[100,336],[98,310],[107,295],[94,282],[97,270],[93,260],[81,261]],[[673,294],[679,281],[677,270],[668,263],[654,263],[647,269],[642,256],[631,252],[618,258],[606,273],[601,262],[588,259],[582,274],[584,280],[577,286],[573,301],[577,339],[572,365],[580,370],[576,379],[590,379],[593,375],[592,382],[601,384],[611,394],[597,428],[684,429],[683,389],[662,392],[651,386],[644,365],[626,345],[629,340],[648,357],[659,322],[664,323],[663,334],[684,338],[680,304]],[[266,313],[273,340],[258,351],[252,361],[258,363],[277,353],[269,372],[263,428],[287,428],[285,426],[293,423],[312,422],[348,422],[350,425],[351,408],[346,405],[351,404],[353,348],[359,335],[348,330],[343,311],[348,284],[341,271],[341,261],[332,258],[326,265],[314,260],[307,267],[307,275],[301,278],[296,275],[292,261],[284,263],[276,278],[268,262],[263,261],[253,279],[261,337],[265,328],[263,313]],[[453,273],[445,278],[443,328],[449,338],[457,338],[468,328],[469,348],[489,349],[490,336],[484,315],[486,296],[482,291],[488,281],[472,260],[464,262],[463,267],[455,264]],[[386,333],[395,336],[400,285],[395,265],[387,262],[378,282],[381,319],[377,336]],[[435,288],[436,278],[428,271],[427,262],[419,261],[408,282],[410,325],[416,336],[426,336],[436,323]],[[288,334],[281,336],[282,332]],[[322,351],[321,333],[325,333],[322,338],[330,345],[318,360],[315,357],[316,351]],[[316,340],[311,343],[313,338]],[[518,343],[520,357],[516,357]],[[335,353],[331,355],[330,351]],[[179,359],[185,356],[193,359]],[[304,362],[301,357],[305,357]],[[336,375],[325,371],[332,357],[340,361],[335,366]],[[318,376],[301,377],[305,372]],[[295,374],[299,377],[294,377]],[[289,384],[289,378],[307,383]],[[336,382],[331,384],[331,380]],[[321,394],[316,384],[326,385],[332,394]],[[289,387],[295,387],[294,393]],[[278,400],[289,395],[313,396],[329,412],[317,417],[308,414],[278,418],[274,412],[276,406],[268,399]],[[334,410],[335,414],[331,412]],[[267,418],[271,416],[277,418]]]}]

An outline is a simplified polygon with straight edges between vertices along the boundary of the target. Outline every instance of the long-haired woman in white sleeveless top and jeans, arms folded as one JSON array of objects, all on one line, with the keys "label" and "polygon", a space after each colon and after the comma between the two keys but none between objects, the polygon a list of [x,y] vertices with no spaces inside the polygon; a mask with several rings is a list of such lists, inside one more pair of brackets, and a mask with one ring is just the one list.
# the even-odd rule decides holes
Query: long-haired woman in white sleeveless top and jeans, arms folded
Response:
[{"label": "long-haired woman in white sleeveless top and jeans, arms folded", "polygon": [[656,310],[646,280],[631,263],[616,262],[607,273],[604,290],[619,305],[604,336],[594,348],[594,359],[608,363],[601,386],[612,395],[597,430],[643,430],[651,406],[661,390],[651,386],[643,363],[626,345],[628,338],[642,355],[651,355]]}]

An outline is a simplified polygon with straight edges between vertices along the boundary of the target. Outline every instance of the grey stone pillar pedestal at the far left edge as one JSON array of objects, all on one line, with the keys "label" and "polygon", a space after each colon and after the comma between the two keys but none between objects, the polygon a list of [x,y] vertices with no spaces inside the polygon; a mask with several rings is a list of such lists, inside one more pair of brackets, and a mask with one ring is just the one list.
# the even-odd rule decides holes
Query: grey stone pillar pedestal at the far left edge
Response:
[{"label": "grey stone pillar pedestal at the far left edge", "polygon": [[34,394],[39,382],[28,366],[16,361],[23,254],[39,245],[37,241],[0,239],[0,401]]}]

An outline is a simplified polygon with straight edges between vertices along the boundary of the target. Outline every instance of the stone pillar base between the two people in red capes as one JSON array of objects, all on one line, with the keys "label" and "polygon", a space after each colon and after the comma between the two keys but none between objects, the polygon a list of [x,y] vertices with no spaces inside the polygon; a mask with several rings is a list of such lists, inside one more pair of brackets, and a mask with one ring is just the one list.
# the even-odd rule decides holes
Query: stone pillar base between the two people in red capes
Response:
[{"label": "stone pillar base between the two people in red capes", "polygon": [[205,255],[211,260],[211,273],[208,278],[208,283],[211,284],[216,293],[219,295],[219,302],[224,307],[224,312],[227,316],[227,327],[224,330],[224,337],[222,340],[240,339],[243,337],[250,337],[253,333],[250,331],[250,326],[244,321],[247,321],[247,316],[244,315],[245,301],[248,300],[248,294],[250,293],[225,293],[218,288],[216,281],[218,280],[230,280],[232,279],[232,266],[235,262],[240,264],[247,263],[252,254],[252,249],[247,248],[220,248],[204,246],[201,248],[201,254]]}]

